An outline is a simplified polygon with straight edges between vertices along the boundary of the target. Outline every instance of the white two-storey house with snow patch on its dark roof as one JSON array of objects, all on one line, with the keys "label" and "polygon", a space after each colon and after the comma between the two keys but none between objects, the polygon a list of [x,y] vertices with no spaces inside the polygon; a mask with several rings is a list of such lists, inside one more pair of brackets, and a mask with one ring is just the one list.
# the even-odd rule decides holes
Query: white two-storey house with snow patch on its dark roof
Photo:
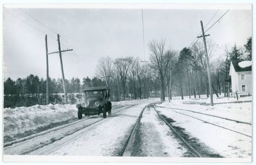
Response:
[{"label": "white two-storey house with snow patch on its dark roof", "polygon": [[232,60],[229,75],[232,93],[252,95],[252,61]]}]

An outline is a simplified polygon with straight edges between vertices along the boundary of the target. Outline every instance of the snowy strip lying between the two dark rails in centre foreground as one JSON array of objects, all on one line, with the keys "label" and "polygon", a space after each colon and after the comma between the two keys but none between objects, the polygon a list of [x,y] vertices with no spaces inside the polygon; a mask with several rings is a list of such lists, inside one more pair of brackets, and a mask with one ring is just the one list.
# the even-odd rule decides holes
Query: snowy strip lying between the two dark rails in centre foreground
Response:
[{"label": "snowy strip lying between the two dark rails in centre foreground", "polygon": [[170,128],[147,107],[140,121],[138,138],[132,155],[143,157],[183,157],[188,150],[180,145]]}]

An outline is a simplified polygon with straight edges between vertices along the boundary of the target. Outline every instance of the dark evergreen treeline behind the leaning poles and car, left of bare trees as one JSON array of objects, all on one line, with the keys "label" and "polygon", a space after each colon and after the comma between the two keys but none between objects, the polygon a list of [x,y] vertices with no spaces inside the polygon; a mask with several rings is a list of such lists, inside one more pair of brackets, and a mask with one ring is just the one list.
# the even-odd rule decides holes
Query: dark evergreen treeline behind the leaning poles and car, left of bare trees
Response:
[{"label": "dark evergreen treeline behind the leaning poles and car, left of bare trees", "polygon": [[[102,80],[97,77],[86,77],[81,83],[79,78],[66,81],[68,103],[75,104],[81,100],[81,89],[87,86],[104,86]],[[64,93],[61,79],[49,78],[50,100],[52,104],[64,104]],[[37,75],[29,75],[24,79],[12,80],[10,77],[4,81],[4,107],[33,106],[46,104],[46,80],[39,79]]]}]

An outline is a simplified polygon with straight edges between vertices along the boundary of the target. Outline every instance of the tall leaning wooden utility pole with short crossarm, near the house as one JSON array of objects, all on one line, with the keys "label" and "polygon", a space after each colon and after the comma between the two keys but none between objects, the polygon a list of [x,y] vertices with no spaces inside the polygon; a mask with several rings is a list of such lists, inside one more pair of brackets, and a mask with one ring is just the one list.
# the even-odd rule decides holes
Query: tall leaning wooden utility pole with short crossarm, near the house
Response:
[{"label": "tall leaning wooden utility pole with short crossarm, near the house", "polygon": [[206,67],[207,67],[207,75],[208,75],[208,82],[209,82],[209,92],[210,92],[210,98],[211,98],[211,106],[213,106],[212,81],[211,81],[211,73],[210,73],[210,65],[209,65],[207,46],[206,46],[206,42],[205,42],[205,36],[209,36],[209,35],[204,35],[204,26],[203,26],[202,20],[200,20],[200,23],[201,23],[201,27],[202,27],[202,36],[198,36],[197,38],[203,37],[203,39],[204,39],[204,49],[205,49]]}]

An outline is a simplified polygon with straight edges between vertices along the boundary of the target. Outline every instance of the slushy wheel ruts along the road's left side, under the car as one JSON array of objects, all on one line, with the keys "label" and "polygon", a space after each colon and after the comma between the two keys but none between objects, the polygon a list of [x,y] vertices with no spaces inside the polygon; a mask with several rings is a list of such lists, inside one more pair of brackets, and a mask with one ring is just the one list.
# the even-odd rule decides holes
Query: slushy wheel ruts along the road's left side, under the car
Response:
[{"label": "slushy wheel ruts along the road's left side, under the car", "polygon": [[[136,105],[137,104],[132,104],[129,106],[119,107],[116,109],[117,111],[115,111],[115,113],[112,113],[111,115],[120,113],[120,111],[123,111],[124,109],[133,107]],[[91,120],[88,120],[88,119],[91,119],[92,122],[91,122]],[[41,148],[42,146],[50,145],[51,143],[54,143],[54,141],[58,141],[68,135],[74,134],[81,129],[85,129],[86,127],[92,127],[92,125],[95,125],[96,123],[99,123],[102,120],[104,120],[104,118],[95,118],[95,116],[91,116],[89,118],[84,118],[84,120],[77,120],[76,122],[68,123],[66,125],[55,127],[53,129],[45,130],[43,132],[39,132],[38,134],[33,134],[33,135],[25,137],[25,138],[21,138],[21,139],[15,140],[15,141],[10,141],[10,142],[4,143],[4,153],[5,154],[9,153],[8,151],[12,150],[12,148],[17,148],[18,151],[17,151],[17,153],[15,153],[16,155],[28,154],[30,152],[37,150],[38,148]],[[79,125],[79,123],[81,123],[81,125]],[[79,127],[77,127],[76,129],[68,129],[70,127],[73,127],[74,125],[79,125]],[[56,131],[65,130],[65,129],[66,129],[66,132],[62,132],[63,134],[61,137],[58,137],[55,135]],[[42,137],[47,136],[47,134],[49,134],[50,139],[44,138],[45,139],[44,143],[40,142],[36,146],[31,145],[29,143],[30,141],[33,141],[34,139],[35,140],[40,139],[40,138],[42,139]],[[51,136],[52,136],[52,138],[51,138]],[[56,138],[56,139],[54,139],[54,138]],[[19,150],[19,146],[20,146],[20,148],[22,148],[21,146],[25,146],[26,150],[22,150],[22,149]]]}]

